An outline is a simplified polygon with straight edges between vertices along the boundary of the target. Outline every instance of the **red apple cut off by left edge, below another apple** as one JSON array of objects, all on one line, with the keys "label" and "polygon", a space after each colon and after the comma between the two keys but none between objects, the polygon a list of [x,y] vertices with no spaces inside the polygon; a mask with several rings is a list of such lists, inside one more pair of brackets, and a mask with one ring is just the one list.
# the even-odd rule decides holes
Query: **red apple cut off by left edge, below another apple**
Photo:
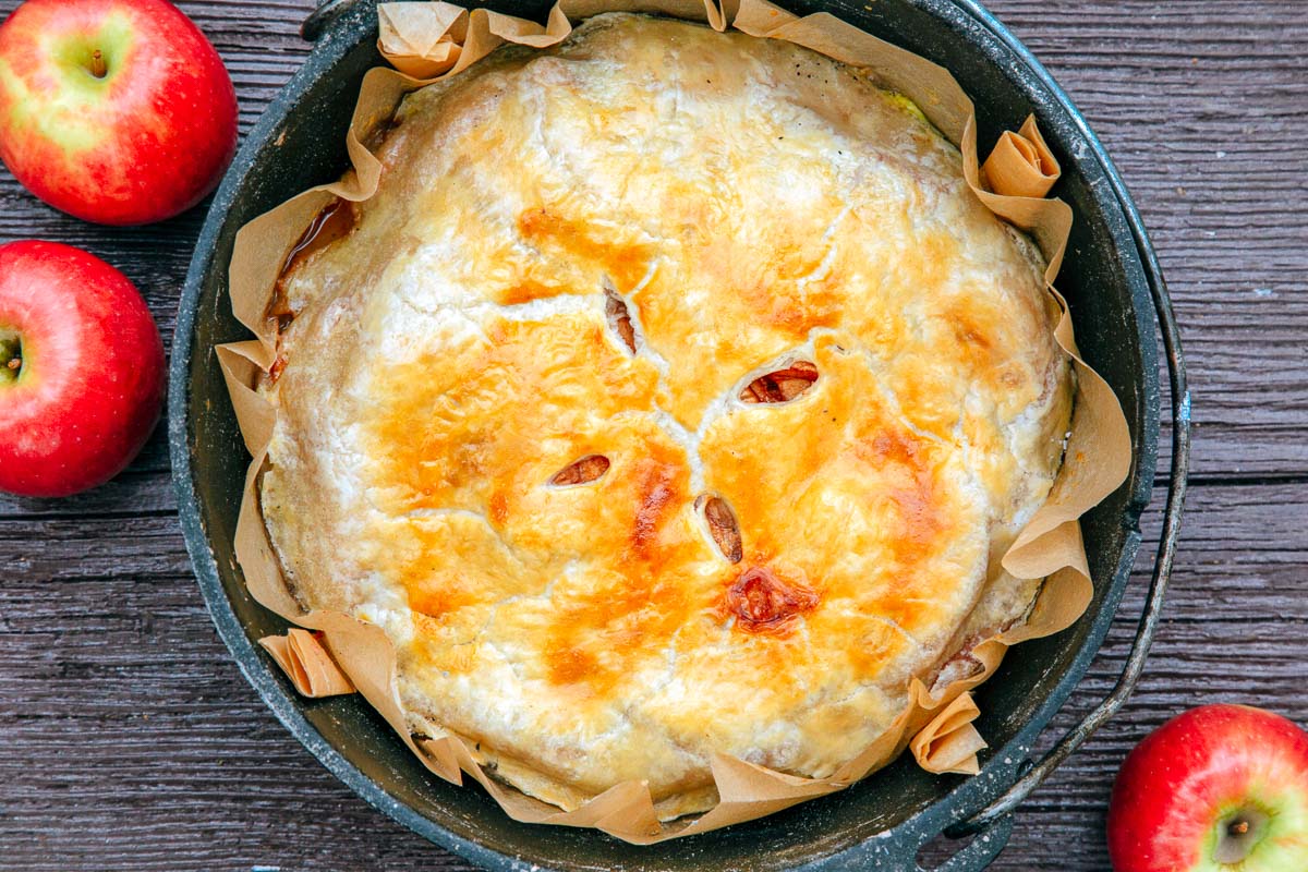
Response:
[{"label": "red apple cut off by left edge, below another apple", "polygon": [[52,242],[0,246],[0,490],[109,481],[162,403],[164,343],[127,276]]}]

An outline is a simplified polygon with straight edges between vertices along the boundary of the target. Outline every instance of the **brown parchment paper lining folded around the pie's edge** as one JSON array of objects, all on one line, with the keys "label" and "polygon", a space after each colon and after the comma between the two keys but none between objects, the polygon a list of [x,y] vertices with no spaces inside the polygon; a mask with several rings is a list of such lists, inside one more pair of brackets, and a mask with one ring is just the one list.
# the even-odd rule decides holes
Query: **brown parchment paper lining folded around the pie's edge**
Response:
[{"label": "brown parchment paper lining folded around the pie's edge", "polygon": [[[981,669],[933,693],[917,679],[909,706],[870,746],[852,756],[835,775],[807,779],[718,754],[712,761],[719,803],[698,818],[661,825],[642,782],[624,782],[573,812],[531,799],[489,777],[459,736],[433,724],[411,733],[395,682],[395,651],[381,628],[336,612],[305,613],[286,588],[268,541],[259,507],[258,477],[267,461],[276,409],[256,394],[256,379],[275,360],[276,326],[264,318],[273,286],[303,229],[335,197],[361,201],[378,184],[381,165],[362,145],[390,120],[404,94],[455,76],[509,42],[548,47],[572,31],[570,20],[600,12],[649,12],[729,26],[746,34],[786,39],[862,68],[883,88],[917,103],[926,118],[955,143],[976,196],[997,216],[1029,233],[1048,260],[1045,281],[1062,318],[1058,343],[1076,373],[1076,397],[1066,458],[1045,506],[1005,554],[1002,566],[1018,578],[1045,578],[1028,620],[977,645],[972,656]],[[251,596],[293,624],[319,631],[318,638],[349,681],[395,728],[400,739],[437,775],[462,783],[467,773],[518,821],[595,828],[627,842],[649,845],[753,820],[803,800],[848,787],[912,745],[917,761],[934,773],[974,773],[976,752],[985,746],[972,722],[978,711],[971,690],[990,677],[1011,645],[1070,626],[1093,594],[1079,518],[1126,478],[1131,463],[1130,433],[1112,388],[1076,353],[1067,305],[1053,289],[1071,229],[1071,208],[1041,196],[1057,179],[1057,161],[1028,118],[1020,133],[1006,135],[986,162],[982,182],[977,158],[976,116],[971,99],[943,68],[886,43],[831,14],[797,17],[766,0],[562,0],[547,26],[485,9],[471,12],[446,3],[394,3],[379,7],[379,46],[405,76],[386,68],[370,71],[347,136],[352,170],[337,183],[313,188],[255,218],[237,235],[230,293],[237,318],[258,339],[218,346],[241,431],[254,456],[246,476],[235,550]],[[1012,139],[1008,139],[1012,137]],[[1033,176],[1044,190],[1032,187]],[[1048,184],[1045,184],[1048,182]],[[994,190],[988,190],[988,184]],[[1018,196],[1019,193],[1031,196]],[[276,643],[273,643],[276,645]]]}]

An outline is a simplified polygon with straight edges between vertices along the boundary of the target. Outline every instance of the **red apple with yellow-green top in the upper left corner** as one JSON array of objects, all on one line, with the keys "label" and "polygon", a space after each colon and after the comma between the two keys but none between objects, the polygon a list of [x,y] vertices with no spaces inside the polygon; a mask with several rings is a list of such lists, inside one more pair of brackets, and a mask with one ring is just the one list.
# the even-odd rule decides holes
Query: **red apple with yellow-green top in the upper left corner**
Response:
[{"label": "red apple with yellow-green top in the upper left corner", "polygon": [[27,0],[0,26],[0,157],[58,209],[170,218],[213,190],[235,143],[232,78],[165,0]]}]

